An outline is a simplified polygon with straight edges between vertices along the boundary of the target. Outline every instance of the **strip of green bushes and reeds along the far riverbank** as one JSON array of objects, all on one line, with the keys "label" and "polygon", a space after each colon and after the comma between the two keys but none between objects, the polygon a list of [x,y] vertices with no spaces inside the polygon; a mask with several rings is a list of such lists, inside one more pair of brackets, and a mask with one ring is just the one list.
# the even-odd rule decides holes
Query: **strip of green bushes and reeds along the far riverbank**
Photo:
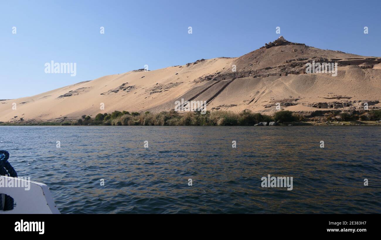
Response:
[{"label": "strip of green bushes and reeds along the far riverbank", "polygon": [[66,117],[55,121],[21,120],[0,122],[0,125],[22,126],[254,126],[254,125],[381,125],[381,109],[370,111],[316,111],[309,117],[291,111],[278,111],[274,115],[265,115],[245,110],[239,113],[231,111],[139,113],[114,111],[110,114],[97,114],[95,117],[83,115],[77,120]]}]

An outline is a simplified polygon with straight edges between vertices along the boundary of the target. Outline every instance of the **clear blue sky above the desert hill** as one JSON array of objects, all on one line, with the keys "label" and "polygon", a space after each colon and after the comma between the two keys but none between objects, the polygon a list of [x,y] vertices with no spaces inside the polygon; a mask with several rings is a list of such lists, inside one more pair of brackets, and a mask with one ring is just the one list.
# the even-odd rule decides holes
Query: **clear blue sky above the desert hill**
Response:
[{"label": "clear blue sky above the desert hill", "polygon": [[[0,99],[144,65],[154,70],[238,57],[280,35],[321,49],[381,56],[380,16],[379,0],[0,0]],[[77,63],[77,75],[46,74],[51,60]]]}]

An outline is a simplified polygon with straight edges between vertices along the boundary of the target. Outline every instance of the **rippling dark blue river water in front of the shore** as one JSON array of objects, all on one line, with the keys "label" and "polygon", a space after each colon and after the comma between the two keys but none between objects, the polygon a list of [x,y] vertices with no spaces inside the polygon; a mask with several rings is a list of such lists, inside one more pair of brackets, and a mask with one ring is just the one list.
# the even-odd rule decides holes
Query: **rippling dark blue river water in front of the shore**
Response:
[{"label": "rippling dark blue river water in front of the shore", "polygon": [[[377,126],[0,126],[0,133],[18,175],[48,185],[61,213],[381,213]],[[293,177],[293,190],[262,188],[267,174]]]}]

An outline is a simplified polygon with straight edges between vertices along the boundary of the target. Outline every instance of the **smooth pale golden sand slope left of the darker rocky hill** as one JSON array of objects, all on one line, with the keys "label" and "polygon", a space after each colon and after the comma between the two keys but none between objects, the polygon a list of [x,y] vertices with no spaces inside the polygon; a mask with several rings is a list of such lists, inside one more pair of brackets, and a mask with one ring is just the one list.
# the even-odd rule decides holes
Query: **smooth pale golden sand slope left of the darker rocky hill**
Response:
[{"label": "smooth pale golden sand slope left of the darker rocky hill", "polygon": [[[24,120],[78,118],[83,114],[94,116],[99,112],[115,110],[131,112],[157,109],[160,111],[162,109],[159,106],[191,89],[195,85],[194,79],[231,65],[232,60],[233,58],[215,58],[190,66],[172,66],[154,71],[131,71],[80,82],[31,97],[0,101],[0,121],[8,122],[20,117]],[[119,90],[117,93],[108,92],[124,83],[128,83],[125,86],[133,86],[128,89],[130,92],[127,92],[128,90]],[[179,83],[179,85],[171,87],[170,83]],[[152,88],[158,85],[171,88],[162,89],[160,93],[152,93],[155,92]],[[78,95],[70,91],[77,91],[75,94]],[[66,93],[73,95],[60,97]],[[104,94],[101,95],[101,93]],[[13,103],[17,104],[16,110],[12,109]],[[101,103],[104,103],[104,110],[100,110]],[[171,104],[173,105],[174,102]]]}]

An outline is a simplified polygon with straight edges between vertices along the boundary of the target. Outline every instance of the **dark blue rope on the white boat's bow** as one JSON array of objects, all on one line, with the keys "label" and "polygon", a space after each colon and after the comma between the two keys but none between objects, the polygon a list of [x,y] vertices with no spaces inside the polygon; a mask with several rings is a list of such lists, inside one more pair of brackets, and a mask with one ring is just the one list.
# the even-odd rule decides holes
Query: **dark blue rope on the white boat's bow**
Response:
[{"label": "dark blue rope on the white boat's bow", "polygon": [[[17,177],[16,171],[8,162],[9,153],[5,150],[0,150],[0,175],[5,175],[8,177]],[[0,194],[0,210],[8,211],[13,209],[13,198],[5,195],[5,204],[3,208],[2,194]]]}]

